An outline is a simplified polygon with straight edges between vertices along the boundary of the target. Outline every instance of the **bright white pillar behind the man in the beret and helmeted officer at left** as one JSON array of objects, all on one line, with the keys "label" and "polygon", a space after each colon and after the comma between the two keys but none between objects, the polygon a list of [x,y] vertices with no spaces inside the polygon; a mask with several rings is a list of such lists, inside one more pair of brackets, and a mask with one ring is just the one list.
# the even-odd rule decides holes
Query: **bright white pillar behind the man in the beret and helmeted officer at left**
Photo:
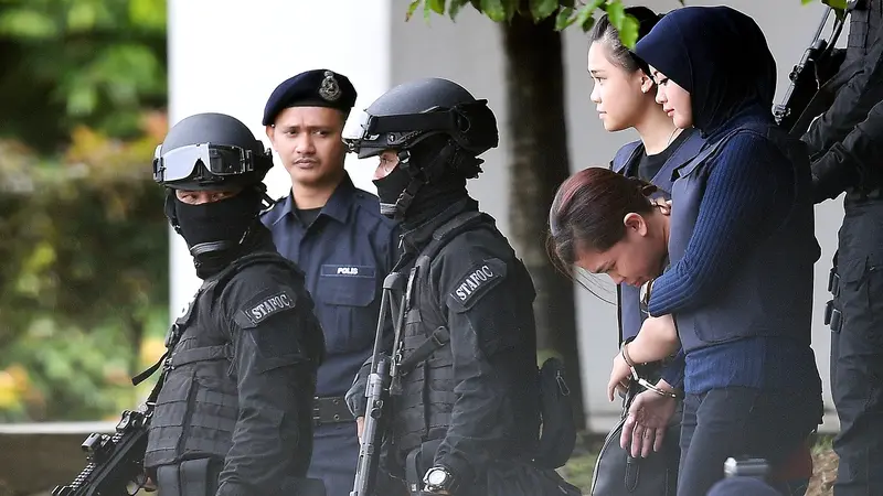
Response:
[{"label": "bright white pillar behind the man in the beret and helmeted officer at left", "polygon": [[[320,67],[353,83],[358,118],[355,110],[389,89],[390,10],[389,0],[169,0],[170,126],[193,114],[228,114],[269,147],[260,126],[267,97],[288,77]],[[348,129],[358,123],[351,119]],[[347,169],[357,186],[374,191],[373,169],[354,157]],[[265,182],[274,198],[290,188],[278,157]],[[200,281],[183,239],[171,235],[177,315]]]}]

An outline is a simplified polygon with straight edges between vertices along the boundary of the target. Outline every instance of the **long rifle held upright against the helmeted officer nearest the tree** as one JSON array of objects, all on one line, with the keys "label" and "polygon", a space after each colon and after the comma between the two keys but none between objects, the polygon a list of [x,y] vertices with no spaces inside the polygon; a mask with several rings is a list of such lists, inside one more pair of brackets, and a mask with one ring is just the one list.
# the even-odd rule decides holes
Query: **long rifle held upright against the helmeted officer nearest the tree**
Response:
[{"label": "long rifle held upright against the helmeted officer nearest the tree", "polygon": [[[398,304],[395,293],[401,292],[403,276],[401,272],[392,272],[383,280],[377,332],[374,336],[374,352],[371,358],[371,374],[368,377],[365,387],[368,402],[365,405],[365,423],[362,429],[362,445],[359,449],[359,463],[350,496],[374,496],[383,434],[390,421],[390,396],[391,391],[395,392],[400,387],[396,376],[398,364],[402,359],[402,326],[404,323],[404,310],[407,305],[404,302]],[[395,319],[395,339],[392,358],[386,356],[382,349],[387,311]]]}]

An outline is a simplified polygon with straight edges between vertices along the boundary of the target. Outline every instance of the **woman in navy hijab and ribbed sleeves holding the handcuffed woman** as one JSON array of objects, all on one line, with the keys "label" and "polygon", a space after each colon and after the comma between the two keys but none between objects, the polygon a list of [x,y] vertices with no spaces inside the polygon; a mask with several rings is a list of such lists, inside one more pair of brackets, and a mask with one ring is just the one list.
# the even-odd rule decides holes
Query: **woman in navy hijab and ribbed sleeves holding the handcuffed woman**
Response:
[{"label": "woman in navy hijab and ribbed sleeves holding the handcuffed woman", "polygon": [[[749,17],[679,9],[636,53],[675,126],[714,150],[675,172],[670,266],[648,301],[651,316],[674,317],[687,353],[678,495],[704,496],[728,456],[776,466],[821,420],[809,162],[773,120],[776,64]],[[659,416],[639,408],[634,433],[652,439]]]}]

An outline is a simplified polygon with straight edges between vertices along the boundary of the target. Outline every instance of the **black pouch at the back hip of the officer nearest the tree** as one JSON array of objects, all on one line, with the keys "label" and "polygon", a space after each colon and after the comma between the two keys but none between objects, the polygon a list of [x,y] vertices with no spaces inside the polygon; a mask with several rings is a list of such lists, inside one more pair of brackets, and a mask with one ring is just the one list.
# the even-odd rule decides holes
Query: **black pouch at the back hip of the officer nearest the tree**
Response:
[{"label": "black pouch at the back hip of the officer nearest the tree", "polygon": [[557,468],[567,463],[576,444],[571,390],[564,380],[564,363],[549,358],[540,367],[540,414],[542,433],[534,463],[542,468]]}]

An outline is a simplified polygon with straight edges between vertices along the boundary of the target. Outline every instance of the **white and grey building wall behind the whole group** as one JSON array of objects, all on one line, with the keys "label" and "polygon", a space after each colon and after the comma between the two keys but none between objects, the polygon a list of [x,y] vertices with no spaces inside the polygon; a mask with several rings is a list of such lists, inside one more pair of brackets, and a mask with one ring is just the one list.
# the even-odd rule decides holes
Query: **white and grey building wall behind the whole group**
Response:
[{"label": "white and grey building wall behind the whole group", "polygon": [[[357,110],[366,107],[394,84],[415,77],[442,76],[457,80],[478,97],[488,98],[498,120],[506,122],[499,28],[470,8],[464,9],[456,23],[434,14],[427,25],[421,12],[404,22],[408,3],[408,0],[170,0],[171,122],[194,112],[221,111],[238,117],[256,134],[264,137],[260,116],[273,88],[286,77],[320,66],[340,71],[352,79],[360,94]],[[679,7],[674,0],[627,3],[646,4],[658,11]],[[766,32],[778,61],[777,99],[780,98],[787,88],[791,65],[799,60],[815,32],[821,6],[817,2],[802,7],[800,0],[724,3],[755,17]],[[213,11],[211,23],[205,17],[210,8]],[[844,32],[841,39],[845,35]],[[588,99],[586,48],[582,32],[568,30],[565,33],[567,132],[574,171],[607,163],[619,145],[635,139],[631,131],[609,134],[602,128]],[[251,63],[242,62],[246,60]],[[211,75],[211,79],[205,75]],[[358,123],[353,120],[351,126]],[[485,155],[486,172],[470,183],[470,191],[507,233],[508,142],[506,130],[501,131],[500,147]],[[360,187],[373,191],[369,181],[370,166],[350,158],[348,169]],[[275,196],[285,194],[287,176],[280,165],[270,171],[267,183]],[[821,323],[821,312],[828,300],[825,285],[842,208],[828,202],[817,214],[817,234],[823,254],[816,272],[813,347],[827,387],[829,332]],[[177,237],[171,250],[171,305],[177,310],[190,298],[196,281],[191,259]],[[603,393],[609,363],[617,348],[615,309],[582,290],[576,296],[591,427],[606,430],[618,413]],[[830,407],[828,390],[826,402]],[[826,429],[836,428],[836,418],[829,418]]]}]

